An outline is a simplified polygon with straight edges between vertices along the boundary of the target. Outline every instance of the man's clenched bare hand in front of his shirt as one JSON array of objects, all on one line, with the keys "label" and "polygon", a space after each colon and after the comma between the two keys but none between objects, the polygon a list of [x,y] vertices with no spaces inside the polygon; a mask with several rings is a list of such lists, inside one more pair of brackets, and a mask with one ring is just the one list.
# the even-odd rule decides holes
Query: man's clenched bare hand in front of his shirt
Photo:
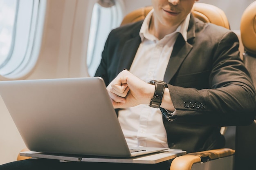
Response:
[{"label": "man's clenched bare hand in front of his shirt", "polygon": [[107,87],[114,108],[149,104],[155,86],[144,82],[127,70],[122,71]]}]

